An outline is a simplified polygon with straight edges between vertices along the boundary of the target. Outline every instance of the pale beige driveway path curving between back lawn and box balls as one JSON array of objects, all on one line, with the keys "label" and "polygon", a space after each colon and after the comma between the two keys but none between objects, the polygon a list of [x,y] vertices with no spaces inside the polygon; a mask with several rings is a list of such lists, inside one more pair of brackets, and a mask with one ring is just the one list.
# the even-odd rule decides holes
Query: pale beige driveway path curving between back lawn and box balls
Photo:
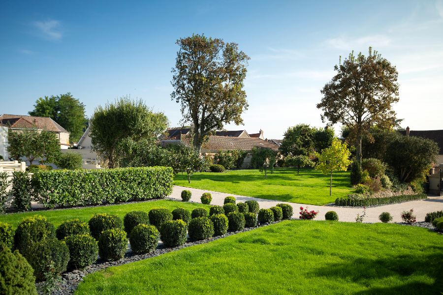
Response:
[{"label": "pale beige driveway path curving between back lawn and box balls", "polygon": [[[169,196],[171,198],[176,198],[181,200],[181,192],[182,190],[187,189],[192,192],[191,201],[200,203],[200,197],[203,193],[211,193],[212,196],[212,205],[220,205],[223,206],[223,200],[227,196],[233,196],[237,200],[237,202],[245,202],[248,200],[257,201],[260,204],[260,208],[270,208],[276,206],[279,203],[286,203],[291,205],[294,208],[294,214],[292,217],[298,218],[300,212],[300,207],[305,208],[306,204],[297,204],[297,203],[288,203],[288,202],[280,202],[266,199],[258,199],[253,197],[239,196],[233,194],[219,193],[214,191],[207,191],[197,188],[190,188],[184,186],[174,185],[174,189],[172,194]],[[414,209],[414,214],[416,215],[417,221],[424,221],[426,213],[441,211],[443,210],[443,197],[429,197],[425,200],[418,201],[410,201],[400,204],[393,205],[385,205],[379,207],[366,208],[366,217],[363,222],[380,222],[379,215],[381,212],[389,212],[394,217],[392,222],[402,222],[400,214],[403,210],[409,211],[410,209]],[[362,208],[343,208],[343,207],[329,207],[329,206],[314,206],[308,205],[308,210],[319,211],[316,220],[324,220],[324,214],[327,211],[336,211],[339,215],[340,221],[348,221],[355,222],[355,217],[357,213],[362,214]]]}]

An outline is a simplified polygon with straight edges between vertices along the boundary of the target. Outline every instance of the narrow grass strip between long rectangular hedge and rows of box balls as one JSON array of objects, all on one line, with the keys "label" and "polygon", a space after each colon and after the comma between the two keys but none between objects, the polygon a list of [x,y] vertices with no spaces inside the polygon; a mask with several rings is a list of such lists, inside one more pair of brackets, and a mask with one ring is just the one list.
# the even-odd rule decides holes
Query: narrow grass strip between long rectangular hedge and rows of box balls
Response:
[{"label": "narrow grass strip between long rectangular hedge and rows of box balls", "polygon": [[78,218],[80,220],[88,222],[89,219],[91,219],[91,217],[96,213],[117,214],[123,220],[123,217],[125,217],[127,212],[130,211],[149,212],[149,210],[151,210],[151,208],[153,207],[166,207],[171,211],[174,210],[175,208],[180,208],[180,207],[189,210],[192,210],[197,207],[205,207],[209,212],[210,206],[196,204],[196,203],[188,203],[188,202],[158,200],[153,202],[97,206],[89,208],[55,209],[55,210],[44,210],[44,211],[31,211],[24,213],[12,213],[12,214],[0,215],[0,221],[12,224],[14,228],[16,228],[17,225],[23,220],[23,218],[39,214],[45,216],[57,228],[62,223],[63,220]]}]

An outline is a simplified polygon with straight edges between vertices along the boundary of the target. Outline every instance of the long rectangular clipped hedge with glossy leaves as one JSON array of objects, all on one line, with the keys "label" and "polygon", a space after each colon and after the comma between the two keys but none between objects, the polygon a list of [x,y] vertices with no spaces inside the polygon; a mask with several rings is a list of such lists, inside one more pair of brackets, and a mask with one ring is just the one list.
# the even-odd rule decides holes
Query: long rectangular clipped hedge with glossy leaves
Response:
[{"label": "long rectangular clipped hedge with glossy leaves", "polygon": [[172,193],[171,167],[37,171],[34,201],[45,207],[162,199]]}]

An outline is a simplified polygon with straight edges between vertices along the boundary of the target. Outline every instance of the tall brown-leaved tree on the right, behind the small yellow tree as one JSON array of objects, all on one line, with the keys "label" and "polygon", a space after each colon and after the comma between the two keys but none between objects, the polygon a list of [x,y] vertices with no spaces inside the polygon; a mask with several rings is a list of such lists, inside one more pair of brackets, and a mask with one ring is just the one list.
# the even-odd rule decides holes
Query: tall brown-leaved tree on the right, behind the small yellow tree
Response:
[{"label": "tall brown-leaved tree on the right, behind the small yellow tree", "polygon": [[357,160],[361,163],[362,136],[370,136],[368,130],[377,125],[389,128],[395,120],[392,104],[399,100],[398,72],[387,59],[369,47],[369,55],[361,53],[335,65],[337,74],[327,83],[321,93],[323,98],[317,108],[324,113],[323,122],[337,122],[347,126],[351,138],[356,139]]}]

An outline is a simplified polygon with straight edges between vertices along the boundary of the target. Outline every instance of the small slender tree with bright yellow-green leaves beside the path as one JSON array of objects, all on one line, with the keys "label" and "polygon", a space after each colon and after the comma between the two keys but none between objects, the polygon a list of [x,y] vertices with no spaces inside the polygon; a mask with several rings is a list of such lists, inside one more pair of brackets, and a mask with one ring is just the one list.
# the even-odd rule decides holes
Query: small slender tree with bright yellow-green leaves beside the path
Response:
[{"label": "small slender tree with bright yellow-green leaves beside the path", "polygon": [[332,195],[332,173],[334,171],[346,171],[348,165],[351,163],[349,160],[350,151],[346,146],[346,143],[338,139],[332,142],[330,148],[323,149],[321,155],[316,153],[318,157],[318,163],[316,170],[321,171],[324,175],[331,175],[329,182],[329,196]]}]

